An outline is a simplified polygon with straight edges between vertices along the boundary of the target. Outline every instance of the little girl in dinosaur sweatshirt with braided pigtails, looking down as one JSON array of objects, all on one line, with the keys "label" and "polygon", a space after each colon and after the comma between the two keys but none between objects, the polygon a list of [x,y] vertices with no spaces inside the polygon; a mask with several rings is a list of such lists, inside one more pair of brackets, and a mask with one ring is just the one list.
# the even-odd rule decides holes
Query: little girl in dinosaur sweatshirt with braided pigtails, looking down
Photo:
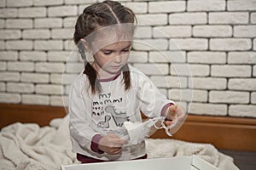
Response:
[{"label": "little girl in dinosaur sweatshirt with braided pigtails, looking down", "polygon": [[166,126],[177,116],[174,130],[185,118],[182,107],[127,64],[136,21],[130,8],[113,1],[84,8],[77,20],[73,40],[84,71],[71,86],[68,108],[73,152],[83,163],[146,158],[144,141],[122,138],[124,122],[142,122],[141,112],[165,116]]}]

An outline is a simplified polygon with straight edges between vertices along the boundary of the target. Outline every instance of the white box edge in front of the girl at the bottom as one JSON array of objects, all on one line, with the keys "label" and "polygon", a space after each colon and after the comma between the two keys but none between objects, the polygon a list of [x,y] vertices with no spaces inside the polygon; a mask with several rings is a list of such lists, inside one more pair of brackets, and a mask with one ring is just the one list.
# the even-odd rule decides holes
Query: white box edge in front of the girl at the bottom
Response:
[{"label": "white box edge in front of the girl at the bottom", "polygon": [[61,170],[218,170],[199,156],[176,156],[132,161],[62,165]]}]

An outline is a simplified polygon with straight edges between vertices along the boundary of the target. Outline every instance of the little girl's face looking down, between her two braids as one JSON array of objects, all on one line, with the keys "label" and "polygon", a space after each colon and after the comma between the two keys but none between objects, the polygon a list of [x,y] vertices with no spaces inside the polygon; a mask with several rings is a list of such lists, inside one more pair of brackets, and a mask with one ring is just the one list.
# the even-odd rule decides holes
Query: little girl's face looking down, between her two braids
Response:
[{"label": "little girl's face looking down, between her two braids", "polygon": [[131,41],[114,42],[99,49],[94,57],[94,68],[100,78],[113,77],[127,63],[131,50]]}]

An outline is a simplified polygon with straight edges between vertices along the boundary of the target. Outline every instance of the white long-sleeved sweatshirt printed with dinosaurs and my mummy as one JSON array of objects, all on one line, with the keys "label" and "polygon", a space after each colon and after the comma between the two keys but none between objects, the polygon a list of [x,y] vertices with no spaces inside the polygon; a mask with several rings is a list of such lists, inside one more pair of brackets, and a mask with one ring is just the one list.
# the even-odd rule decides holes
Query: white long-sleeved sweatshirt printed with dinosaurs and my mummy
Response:
[{"label": "white long-sleeved sweatshirt printed with dinosaurs and my mummy", "polygon": [[124,145],[119,155],[91,150],[96,134],[125,135],[123,122],[141,122],[141,111],[148,117],[165,116],[166,105],[173,103],[141,71],[129,66],[131,88],[125,91],[123,73],[112,79],[100,80],[101,94],[91,94],[90,82],[83,73],[74,80],[69,93],[70,134],[73,152],[100,160],[131,160],[144,156],[144,141]]}]

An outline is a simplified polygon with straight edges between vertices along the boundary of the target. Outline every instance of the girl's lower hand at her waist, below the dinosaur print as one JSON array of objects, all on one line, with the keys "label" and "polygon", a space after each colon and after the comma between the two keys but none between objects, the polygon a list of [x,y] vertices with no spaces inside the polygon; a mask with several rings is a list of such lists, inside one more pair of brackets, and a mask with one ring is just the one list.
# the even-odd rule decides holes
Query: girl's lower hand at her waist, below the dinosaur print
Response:
[{"label": "girl's lower hand at her waist, below the dinosaur print", "polygon": [[100,139],[98,148],[109,155],[116,155],[122,151],[124,144],[127,144],[127,141],[120,139],[119,136],[115,134],[107,134]]}]

